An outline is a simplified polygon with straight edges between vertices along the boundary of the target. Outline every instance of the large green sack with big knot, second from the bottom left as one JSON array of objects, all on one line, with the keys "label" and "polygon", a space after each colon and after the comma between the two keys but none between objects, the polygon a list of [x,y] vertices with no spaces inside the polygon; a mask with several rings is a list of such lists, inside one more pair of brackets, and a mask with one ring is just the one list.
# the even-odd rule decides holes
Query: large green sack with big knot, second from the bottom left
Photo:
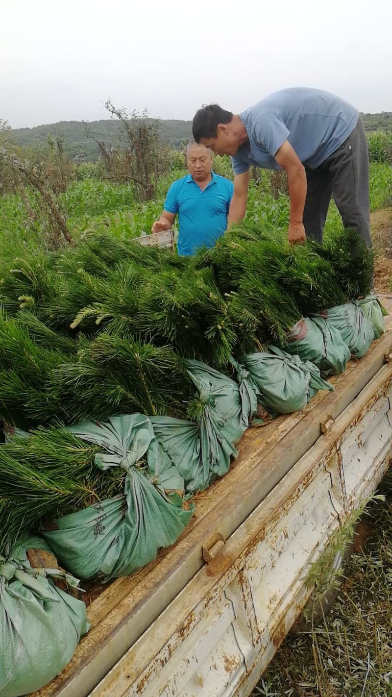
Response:
[{"label": "large green sack with big knot, second from the bottom left", "polygon": [[127,576],[175,542],[194,513],[184,480],[159,446],[148,417],[83,422],[72,434],[102,448],[100,470],[122,468],[124,493],[54,521],[42,536],[72,574],[108,581]]}]

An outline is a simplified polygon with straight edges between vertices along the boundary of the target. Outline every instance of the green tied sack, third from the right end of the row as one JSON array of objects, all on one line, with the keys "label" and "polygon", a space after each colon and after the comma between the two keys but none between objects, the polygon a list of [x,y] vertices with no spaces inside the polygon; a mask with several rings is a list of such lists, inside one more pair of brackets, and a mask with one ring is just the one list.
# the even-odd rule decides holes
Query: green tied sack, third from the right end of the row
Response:
[{"label": "green tied sack, third from the right end of the row", "polygon": [[339,330],[318,316],[303,317],[294,325],[288,333],[285,351],[311,361],[324,376],[345,372],[351,355]]}]

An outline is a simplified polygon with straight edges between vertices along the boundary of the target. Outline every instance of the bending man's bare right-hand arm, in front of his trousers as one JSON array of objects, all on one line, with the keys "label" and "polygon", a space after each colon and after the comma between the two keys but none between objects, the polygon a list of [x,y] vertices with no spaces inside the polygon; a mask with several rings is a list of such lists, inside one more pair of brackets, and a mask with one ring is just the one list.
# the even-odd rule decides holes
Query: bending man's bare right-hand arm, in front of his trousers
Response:
[{"label": "bending man's bare right-hand arm, in front of his trousers", "polygon": [[305,167],[288,140],[285,140],[277,151],[275,160],[287,172],[288,176],[288,192],[290,195],[288,241],[290,243],[304,242],[306,235],[302,219],[307,190]]}]

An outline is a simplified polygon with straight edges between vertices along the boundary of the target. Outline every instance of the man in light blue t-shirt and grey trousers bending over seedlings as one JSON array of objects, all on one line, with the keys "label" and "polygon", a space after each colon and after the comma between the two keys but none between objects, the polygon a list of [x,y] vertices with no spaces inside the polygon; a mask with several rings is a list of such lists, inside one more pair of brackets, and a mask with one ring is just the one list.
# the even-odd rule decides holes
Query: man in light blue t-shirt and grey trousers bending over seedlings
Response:
[{"label": "man in light blue t-shirt and grey trousers bending over seedlings", "polygon": [[[306,235],[322,242],[331,195],[345,227],[371,245],[369,163],[358,111],[329,92],[283,89],[242,114],[219,105],[199,109],[194,139],[219,155],[232,155],[234,195],[229,224],[244,217],[249,167],[285,169],[290,194],[290,243]],[[306,235],[305,235],[306,232]]]}]

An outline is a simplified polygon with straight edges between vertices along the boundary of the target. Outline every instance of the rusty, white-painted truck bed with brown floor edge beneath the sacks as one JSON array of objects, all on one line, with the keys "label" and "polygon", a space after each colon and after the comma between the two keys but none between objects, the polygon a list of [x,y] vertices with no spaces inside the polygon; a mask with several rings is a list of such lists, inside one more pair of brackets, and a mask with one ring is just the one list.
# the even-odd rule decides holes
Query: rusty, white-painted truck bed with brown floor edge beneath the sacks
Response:
[{"label": "rusty, white-painted truck bed with brown floor edge beneath the sacks", "polygon": [[[391,299],[384,298],[385,304],[392,305]],[[391,353],[392,328],[387,321],[386,333],[368,354],[351,360],[343,375],[331,378],[335,392],[319,392],[304,411],[248,429],[228,474],[196,496],[194,519],[180,539],[140,572],[88,590],[91,630],[70,664],[35,696],[249,694],[261,664],[267,665],[306,602],[299,569],[316,550],[320,553],[330,530],[373,491],[389,465]],[[376,431],[377,443],[369,445]],[[359,451],[369,447],[370,455],[363,459]],[[347,460],[343,471],[343,451],[351,458],[355,455],[358,466]],[[306,519],[306,507],[314,517],[317,506],[326,513],[320,529],[313,521],[314,539],[306,548],[306,560],[293,564],[293,572],[290,569],[296,575],[289,584],[294,595],[288,603],[288,589],[279,586],[279,574],[283,579],[283,568],[287,572],[287,560],[282,560],[288,547],[283,541],[292,539],[293,558],[301,555],[306,545],[298,537],[300,521]],[[271,561],[274,544],[276,558]],[[262,572],[268,563],[269,570]],[[282,563],[274,576],[272,569]],[[256,590],[255,574],[265,579],[262,594],[270,591],[267,606],[260,597],[255,599],[261,592],[260,579]],[[219,622],[226,622],[226,629],[219,629]],[[214,638],[201,641],[212,630]],[[224,648],[214,657],[217,636],[224,636]],[[207,649],[213,658],[203,673],[199,668],[206,665]],[[192,660],[194,666],[189,666]]]}]

